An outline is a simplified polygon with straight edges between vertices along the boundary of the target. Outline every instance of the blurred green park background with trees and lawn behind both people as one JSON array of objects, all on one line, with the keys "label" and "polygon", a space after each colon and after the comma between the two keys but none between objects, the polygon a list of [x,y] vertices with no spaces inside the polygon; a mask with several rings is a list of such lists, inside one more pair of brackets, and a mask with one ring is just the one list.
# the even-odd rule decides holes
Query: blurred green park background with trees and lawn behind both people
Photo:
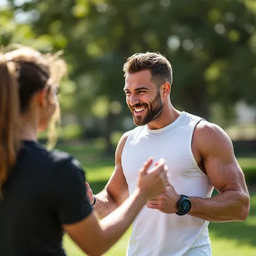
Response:
[{"label": "blurred green park background with trees and lawn behind both people", "polygon": [[[173,106],[227,131],[250,189],[248,220],[210,223],[213,255],[256,255],[255,0],[0,0],[0,45],[10,43],[63,50],[68,77],[56,147],[81,161],[93,193],[113,172],[120,136],[134,127],[123,92],[126,58],[164,54]],[[125,255],[129,234],[105,255]],[[64,247],[84,255],[67,236]]]}]

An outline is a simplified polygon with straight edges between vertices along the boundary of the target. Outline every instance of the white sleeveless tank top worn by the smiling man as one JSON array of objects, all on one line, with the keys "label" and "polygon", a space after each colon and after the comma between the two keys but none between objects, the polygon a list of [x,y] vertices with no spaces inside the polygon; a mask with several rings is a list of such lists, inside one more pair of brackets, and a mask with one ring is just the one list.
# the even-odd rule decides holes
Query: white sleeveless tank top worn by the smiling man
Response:
[{"label": "white sleeveless tank top worn by the smiling man", "polygon": [[[193,131],[200,120],[198,116],[182,112],[162,129],[149,130],[145,125],[127,132],[122,168],[130,195],[137,185],[138,170],[152,156],[154,162],[161,157],[166,160],[170,183],[178,194],[211,197],[212,184],[198,167],[191,150]],[[188,214],[164,214],[145,206],[132,225],[127,255],[211,255],[208,224],[209,221]],[[190,250],[194,253],[189,253]]]}]

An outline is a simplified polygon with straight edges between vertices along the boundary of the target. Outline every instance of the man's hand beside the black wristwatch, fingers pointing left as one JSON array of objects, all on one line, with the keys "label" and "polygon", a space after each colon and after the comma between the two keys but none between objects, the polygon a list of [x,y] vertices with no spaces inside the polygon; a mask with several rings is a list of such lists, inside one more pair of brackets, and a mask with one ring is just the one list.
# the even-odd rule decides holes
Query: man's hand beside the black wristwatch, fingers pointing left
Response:
[{"label": "man's hand beside the black wristwatch, fingers pointing left", "polygon": [[165,193],[149,200],[147,207],[157,209],[164,213],[175,213],[178,211],[177,202],[179,199],[180,195],[177,194],[173,186],[169,183],[168,186],[166,186]]}]

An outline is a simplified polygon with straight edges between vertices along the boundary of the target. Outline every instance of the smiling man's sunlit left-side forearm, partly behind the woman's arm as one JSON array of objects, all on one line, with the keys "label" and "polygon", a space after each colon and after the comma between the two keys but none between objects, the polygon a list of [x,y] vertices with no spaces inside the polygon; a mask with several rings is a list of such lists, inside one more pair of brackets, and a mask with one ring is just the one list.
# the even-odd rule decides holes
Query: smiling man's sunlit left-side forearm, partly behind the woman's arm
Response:
[{"label": "smiling man's sunlit left-side forearm, partly behind the woman's arm", "polygon": [[94,205],[94,209],[100,219],[115,211],[116,207],[118,206],[105,189],[99,194],[95,195],[95,197],[96,203]]}]

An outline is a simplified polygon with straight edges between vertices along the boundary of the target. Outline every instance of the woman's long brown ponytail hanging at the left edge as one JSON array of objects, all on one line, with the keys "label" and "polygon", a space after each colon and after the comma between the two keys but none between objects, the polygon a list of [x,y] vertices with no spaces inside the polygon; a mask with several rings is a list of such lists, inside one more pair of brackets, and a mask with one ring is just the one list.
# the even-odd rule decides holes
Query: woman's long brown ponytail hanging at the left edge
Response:
[{"label": "woman's long brown ponytail hanging at the left edge", "polygon": [[19,150],[19,93],[15,63],[0,55],[0,197]]}]

